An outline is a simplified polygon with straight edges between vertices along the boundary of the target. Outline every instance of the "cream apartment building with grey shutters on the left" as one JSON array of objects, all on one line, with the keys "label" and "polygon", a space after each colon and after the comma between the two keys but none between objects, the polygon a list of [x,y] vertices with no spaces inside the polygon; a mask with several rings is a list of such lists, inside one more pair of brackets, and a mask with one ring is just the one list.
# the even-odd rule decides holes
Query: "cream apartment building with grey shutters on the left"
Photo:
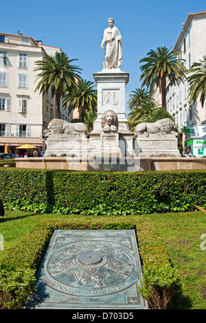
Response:
[{"label": "cream apartment building with grey shutters on the left", "polygon": [[[16,153],[22,144],[45,148],[43,131],[54,118],[55,98],[51,89],[44,96],[35,91],[38,81],[34,67],[36,60],[56,51],[61,49],[20,32],[0,32],[0,153],[5,146],[8,152]],[[68,115],[61,107],[60,118],[70,122],[72,113]]]}]

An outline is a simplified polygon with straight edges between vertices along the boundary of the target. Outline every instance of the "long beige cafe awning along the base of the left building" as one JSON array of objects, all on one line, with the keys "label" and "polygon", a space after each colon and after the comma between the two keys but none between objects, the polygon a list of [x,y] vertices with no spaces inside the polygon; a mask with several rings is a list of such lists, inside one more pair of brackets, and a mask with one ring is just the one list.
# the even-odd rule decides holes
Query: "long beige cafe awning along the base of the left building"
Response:
[{"label": "long beige cafe awning along the base of the left building", "polygon": [[45,140],[42,138],[28,138],[28,137],[0,137],[0,146],[21,146],[23,144],[30,144],[32,146],[45,146]]}]

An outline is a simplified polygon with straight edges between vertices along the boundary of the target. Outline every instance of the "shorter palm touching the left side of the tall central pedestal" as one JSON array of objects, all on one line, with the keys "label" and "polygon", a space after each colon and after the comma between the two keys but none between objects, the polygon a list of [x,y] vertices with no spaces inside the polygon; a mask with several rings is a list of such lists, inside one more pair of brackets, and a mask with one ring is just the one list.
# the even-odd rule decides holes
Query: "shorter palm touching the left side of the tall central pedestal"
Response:
[{"label": "shorter palm touching the left side of the tall central pedestal", "polygon": [[78,80],[71,92],[65,94],[62,103],[65,107],[69,105],[69,111],[78,109],[80,120],[84,122],[84,112],[87,109],[93,110],[97,107],[97,90],[95,83],[87,80]]}]

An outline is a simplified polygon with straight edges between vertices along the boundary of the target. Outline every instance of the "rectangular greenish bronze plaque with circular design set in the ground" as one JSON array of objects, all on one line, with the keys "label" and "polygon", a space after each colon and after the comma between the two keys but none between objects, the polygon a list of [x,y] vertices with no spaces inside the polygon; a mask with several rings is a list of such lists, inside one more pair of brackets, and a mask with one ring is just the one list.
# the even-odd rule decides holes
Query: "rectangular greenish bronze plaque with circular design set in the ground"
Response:
[{"label": "rectangular greenish bronze plaque with circular design set in the ground", "polygon": [[26,309],[148,309],[135,230],[56,230]]}]

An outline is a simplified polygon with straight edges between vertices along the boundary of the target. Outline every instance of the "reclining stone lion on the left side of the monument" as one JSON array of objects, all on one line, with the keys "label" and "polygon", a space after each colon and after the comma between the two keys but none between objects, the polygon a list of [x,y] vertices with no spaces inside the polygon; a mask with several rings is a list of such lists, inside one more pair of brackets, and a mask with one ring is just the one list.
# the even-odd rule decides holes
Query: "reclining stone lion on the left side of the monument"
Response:
[{"label": "reclining stone lion on the left side of the monument", "polygon": [[47,129],[44,131],[45,137],[49,135],[78,135],[79,133],[88,134],[87,125],[82,122],[67,122],[61,119],[53,119],[49,122]]}]

